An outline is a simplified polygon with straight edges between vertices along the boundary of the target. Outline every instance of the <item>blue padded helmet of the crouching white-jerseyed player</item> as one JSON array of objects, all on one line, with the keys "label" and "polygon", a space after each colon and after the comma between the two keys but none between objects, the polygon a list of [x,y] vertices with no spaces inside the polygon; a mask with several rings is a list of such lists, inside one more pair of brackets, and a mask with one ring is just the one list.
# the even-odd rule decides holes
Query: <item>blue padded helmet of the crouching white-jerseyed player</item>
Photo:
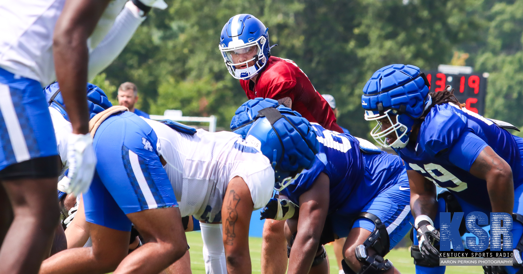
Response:
[{"label": "blue padded helmet of the crouching white-jerseyed player", "polygon": [[281,191],[310,169],[320,149],[309,121],[283,105],[258,112],[245,141],[271,161],[275,171],[274,189]]}]

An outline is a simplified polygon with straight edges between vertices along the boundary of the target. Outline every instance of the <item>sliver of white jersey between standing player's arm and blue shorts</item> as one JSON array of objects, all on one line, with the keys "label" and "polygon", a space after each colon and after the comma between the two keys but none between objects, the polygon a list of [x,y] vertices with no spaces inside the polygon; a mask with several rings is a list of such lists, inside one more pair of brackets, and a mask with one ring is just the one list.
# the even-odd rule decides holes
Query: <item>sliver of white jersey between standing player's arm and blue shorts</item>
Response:
[{"label": "sliver of white jersey between standing player's arm and blue shorts", "polygon": [[58,145],[58,154],[62,160],[60,176],[69,168],[67,162],[67,139],[73,132],[71,123],[63,117],[63,115],[55,108],[49,107],[51,120],[53,121],[54,135],[56,136],[56,144]]}]

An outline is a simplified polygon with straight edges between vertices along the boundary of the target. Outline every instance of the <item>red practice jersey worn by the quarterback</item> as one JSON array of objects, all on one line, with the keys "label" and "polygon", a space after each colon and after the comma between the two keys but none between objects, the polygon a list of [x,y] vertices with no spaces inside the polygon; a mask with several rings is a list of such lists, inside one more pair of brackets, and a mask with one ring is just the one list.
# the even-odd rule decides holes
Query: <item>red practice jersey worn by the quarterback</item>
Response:
[{"label": "red practice jersey worn by the quarterback", "polygon": [[279,100],[290,97],[292,110],[309,122],[343,133],[343,129],[336,124],[331,106],[314,89],[309,77],[289,59],[269,57],[265,68],[258,74],[256,84],[251,80],[240,80],[240,85],[249,99],[262,97]]}]

